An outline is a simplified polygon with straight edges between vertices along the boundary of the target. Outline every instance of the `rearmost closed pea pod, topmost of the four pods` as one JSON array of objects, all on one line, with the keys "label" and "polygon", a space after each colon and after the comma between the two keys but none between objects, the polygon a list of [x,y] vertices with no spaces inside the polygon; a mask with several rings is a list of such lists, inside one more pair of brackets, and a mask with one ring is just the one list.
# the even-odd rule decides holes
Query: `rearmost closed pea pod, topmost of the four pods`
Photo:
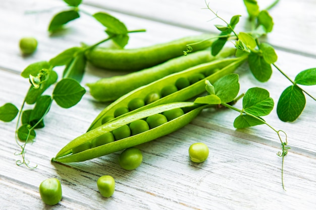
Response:
[{"label": "rearmost closed pea pod, topmost of the four pods", "polygon": [[95,47],[87,51],[86,57],[96,67],[135,72],[183,55],[188,44],[196,43],[192,45],[193,51],[206,49],[212,45],[215,37],[212,34],[201,34],[135,49]]}]

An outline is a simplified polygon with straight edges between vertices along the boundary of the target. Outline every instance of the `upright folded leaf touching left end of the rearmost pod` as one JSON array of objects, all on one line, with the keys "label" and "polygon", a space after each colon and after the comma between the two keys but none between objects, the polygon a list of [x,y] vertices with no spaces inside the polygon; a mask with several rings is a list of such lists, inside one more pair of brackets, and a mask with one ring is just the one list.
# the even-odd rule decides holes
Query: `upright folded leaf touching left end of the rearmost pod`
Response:
[{"label": "upright folded leaf touching left end of the rearmost pod", "polygon": [[63,78],[71,78],[80,83],[85,72],[86,61],[87,59],[84,55],[84,51],[78,52],[66,65]]}]

